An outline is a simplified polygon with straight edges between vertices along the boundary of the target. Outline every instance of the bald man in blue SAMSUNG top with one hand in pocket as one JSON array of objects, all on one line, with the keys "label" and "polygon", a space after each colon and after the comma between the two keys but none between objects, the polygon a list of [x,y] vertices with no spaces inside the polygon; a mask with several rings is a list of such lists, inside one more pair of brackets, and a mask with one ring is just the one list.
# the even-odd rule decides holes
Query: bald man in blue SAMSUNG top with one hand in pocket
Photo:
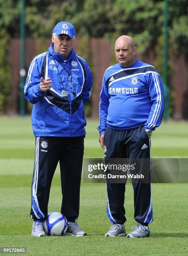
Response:
[{"label": "bald man in blue SAMSUNG top with one hand in pocket", "polygon": [[[136,52],[130,36],[120,36],[115,42],[118,63],[104,73],[100,93],[99,142],[105,159],[140,159],[139,168],[132,173],[143,174],[149,169],[150,177],[150,140],[163,117],[163,83],[155,67],[135,59]],[[112,226],[105,236],[125,236],[125,182],[116,182],[107,182],[107,215]],[[149,237],[151,184],[137,179],[132,186],[137,225],[127,238]]]}]

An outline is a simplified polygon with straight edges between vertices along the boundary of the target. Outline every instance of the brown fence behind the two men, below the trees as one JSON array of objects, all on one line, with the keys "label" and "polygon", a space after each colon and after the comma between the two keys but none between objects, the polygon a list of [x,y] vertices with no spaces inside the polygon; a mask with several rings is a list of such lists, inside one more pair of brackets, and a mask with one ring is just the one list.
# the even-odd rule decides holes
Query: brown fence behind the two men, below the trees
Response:
[{"label": "brown fence behind the two men, below the trees", "polygon": [[[25,40],[25,68],[28,71],[30,61],[37,54],[39,49],[43,48],[44,51],[48,49],[51,41],[44,40],[40,44],[37,40],[27,38]],[[94,90],[91,97],[92,104],[92,118],[98,118],[98,105],[99,94],[102,83],[104,71],[109,67],[112,59],[113,49],[109,43],[104,41],[103,38],[91,38],[91,59],[92,59],[92,71],[94,78]],[[76,39],[74,49],[79,48],[79,39]],[[18,114],[19,113],[19,71],[20,71],[20,40],[12,39],[9,47],[9,61],[11,64],[11,92],[8,104],[7,113]],[[147,54],[137,54],[137,58],[141,61],[153,64],[155,55],[153,51]],[[183,54],[175,56],[170,54],[170,62],[173,64],[173,76],[171,80],[172,88],[174,90],[174,112],[173,118],[175,119],[188,119],[188,63]]]}]

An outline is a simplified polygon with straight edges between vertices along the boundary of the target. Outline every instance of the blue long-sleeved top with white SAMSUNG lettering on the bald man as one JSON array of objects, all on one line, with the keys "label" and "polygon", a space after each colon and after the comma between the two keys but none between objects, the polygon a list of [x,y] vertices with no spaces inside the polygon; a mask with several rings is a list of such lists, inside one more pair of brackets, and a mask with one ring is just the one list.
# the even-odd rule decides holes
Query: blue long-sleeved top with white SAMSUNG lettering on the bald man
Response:
[{"label": "blue long-sleeved top with white SAMSUNG lettering on the bald man", "polygon": [[126,130],[145,125],[154,131],[163,111],[163,83],[155,67],[135,59],[129,67],[118,63],[106,70],[99,102],[100,134],[107,126]]}]

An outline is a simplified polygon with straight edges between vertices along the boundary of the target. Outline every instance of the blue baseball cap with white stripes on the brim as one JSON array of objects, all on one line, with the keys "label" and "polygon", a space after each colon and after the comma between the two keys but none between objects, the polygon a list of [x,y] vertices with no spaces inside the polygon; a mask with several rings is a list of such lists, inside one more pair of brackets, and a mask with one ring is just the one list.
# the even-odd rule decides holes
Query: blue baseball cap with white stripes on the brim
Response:
[{"label": "blue baseball cap with white stripes on the brim", "polygon": [[61,21],[57,23],[53,29],[53,33],[56,33],[56,36],[61,34],[66,34],[70,36],[70,38],[73,38],[73,36],[76,36],[76,31],[74,29],[74,26],[67,21]]}]

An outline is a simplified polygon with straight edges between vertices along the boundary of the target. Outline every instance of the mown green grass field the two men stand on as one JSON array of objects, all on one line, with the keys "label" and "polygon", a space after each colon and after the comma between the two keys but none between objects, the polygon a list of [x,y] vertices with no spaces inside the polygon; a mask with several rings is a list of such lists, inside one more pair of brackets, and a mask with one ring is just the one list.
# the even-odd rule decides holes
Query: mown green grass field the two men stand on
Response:
[{"label": "mown green grass field the two men stand on", "polygon": [[[97,122],[88,120],[84,157],[103,157]],[[27,255],[187,255],[188,184],[153,184],[154,221],[150,238],[105,238],[105,184],[81,184],[79,225],[85,237],[31,237],[30,182],[35,141],[30,118],[0,118],[0,247],[25,247]],[[168,122],[152,136],[152,157],[188,158],[188,123]],[[48,211],[60,211],[59,169]],[[134,221],[132,185],[126,186],[126,231]]]}]

